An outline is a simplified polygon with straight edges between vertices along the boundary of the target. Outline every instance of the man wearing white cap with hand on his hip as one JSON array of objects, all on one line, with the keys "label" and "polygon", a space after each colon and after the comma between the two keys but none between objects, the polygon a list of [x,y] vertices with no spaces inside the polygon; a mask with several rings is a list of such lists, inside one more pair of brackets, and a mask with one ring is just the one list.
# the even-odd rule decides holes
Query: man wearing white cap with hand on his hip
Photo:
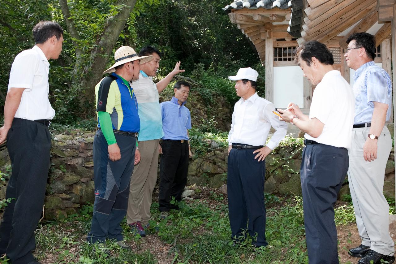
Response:
[{"label": "man wearing white cap with hand on his hip", "polygon": [[[234,106],[228,133],[227,190],[234,244],[246,238],[244,230],[247,228],[253,237],[252,245],[260,247],[268,245],[265,240],[264,159],[285,137],[287,124],[272,113],[275,107],[270,101],[257,95],[258,75],[248,67],[228,77],[236,81],[236,95],[241,99]],[[271,126],[276,132],[266,145]]]}]

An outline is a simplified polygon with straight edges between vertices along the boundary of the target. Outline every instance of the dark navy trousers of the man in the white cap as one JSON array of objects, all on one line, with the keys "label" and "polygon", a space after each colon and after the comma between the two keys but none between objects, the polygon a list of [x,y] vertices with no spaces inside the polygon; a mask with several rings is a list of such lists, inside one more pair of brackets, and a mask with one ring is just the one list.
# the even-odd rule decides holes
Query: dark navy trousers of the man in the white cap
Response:
[{"label": "dark navy trousers of the man in the white cap", "polygon": [[[257,247],[267,246],[265,240],[264,181],[265,162],[254,159],[255,149],[231,149],[228,155],[228,214],[232,239],[244,239],[246,230]],[[249,221],[249,224],[247,224]]]}]

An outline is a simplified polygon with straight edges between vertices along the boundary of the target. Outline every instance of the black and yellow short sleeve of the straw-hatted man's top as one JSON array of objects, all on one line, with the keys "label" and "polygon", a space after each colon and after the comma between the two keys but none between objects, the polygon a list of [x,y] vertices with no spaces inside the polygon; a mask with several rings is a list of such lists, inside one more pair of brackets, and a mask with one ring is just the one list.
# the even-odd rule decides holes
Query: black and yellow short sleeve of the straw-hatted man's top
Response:
[{"label": "black and yellow short sleeve of the straw-hatted man's top", "polygon": [[116,105],[117,82],[111,77],[105,77],[99,84],[96,111],[113,113]]}]

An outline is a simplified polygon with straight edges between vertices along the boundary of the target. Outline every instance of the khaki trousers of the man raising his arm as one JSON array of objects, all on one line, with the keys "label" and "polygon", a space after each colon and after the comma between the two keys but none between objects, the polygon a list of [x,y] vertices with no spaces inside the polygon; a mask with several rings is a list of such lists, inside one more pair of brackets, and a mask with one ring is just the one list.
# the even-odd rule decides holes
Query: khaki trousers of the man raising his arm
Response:
[{"label": "khaki trousers of the man raising his arm", "polygon": [[141,160],[133,170],[129,186],[128,224],[141,221],[145,226],[150,220],[152,191],[158,176],[159,143],[159,139],[139,141]]}]

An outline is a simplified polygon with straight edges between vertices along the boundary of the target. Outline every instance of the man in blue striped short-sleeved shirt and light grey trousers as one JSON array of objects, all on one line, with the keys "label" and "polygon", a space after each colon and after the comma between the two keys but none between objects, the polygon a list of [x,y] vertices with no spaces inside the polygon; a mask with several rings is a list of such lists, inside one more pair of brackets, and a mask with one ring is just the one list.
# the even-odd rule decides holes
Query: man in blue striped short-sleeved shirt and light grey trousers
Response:
[{"label": "man in blue striped short-sleeved shirt and light grey trousers", "polygon": [[[390,117],[392,84],[374,63],[375,38],[349,36],[345,60],[354,69],[355,118],[349,151],[348,181],[362,244],[348,251],[359,264],[394,262],[394,242],[388,233],[389,206],[382,191],[392,139],[385,121]],[[383,261],[382,261],[383,260]]]}]

